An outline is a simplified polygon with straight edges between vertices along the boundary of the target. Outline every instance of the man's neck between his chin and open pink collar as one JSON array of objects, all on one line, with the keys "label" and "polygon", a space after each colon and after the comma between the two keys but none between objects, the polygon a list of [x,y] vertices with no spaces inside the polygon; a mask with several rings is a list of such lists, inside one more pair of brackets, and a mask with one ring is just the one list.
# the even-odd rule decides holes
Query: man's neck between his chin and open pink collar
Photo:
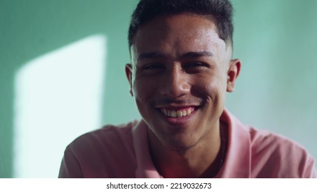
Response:
[{"label": "man's neck between his chin and open pink collar", "polygon": [[[170,149],[149,132],[153,163],[164,178],[212,178],[222,164],[225,151],[220,130],[215,126],[196,145],[185,149]],[[222,136],[221,136],[222,135]]]}]

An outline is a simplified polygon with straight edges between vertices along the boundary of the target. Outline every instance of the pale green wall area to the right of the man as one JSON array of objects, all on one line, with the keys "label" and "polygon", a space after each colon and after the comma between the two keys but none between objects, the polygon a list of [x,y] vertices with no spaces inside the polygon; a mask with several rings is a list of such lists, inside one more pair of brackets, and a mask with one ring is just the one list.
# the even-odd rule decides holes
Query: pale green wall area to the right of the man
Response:
[{"label": "pale green wall area to the right of the man", "polygon": [[242,121],[304,145],[317,158],[317,1],[233,1],[235,57],[227,106]]}]

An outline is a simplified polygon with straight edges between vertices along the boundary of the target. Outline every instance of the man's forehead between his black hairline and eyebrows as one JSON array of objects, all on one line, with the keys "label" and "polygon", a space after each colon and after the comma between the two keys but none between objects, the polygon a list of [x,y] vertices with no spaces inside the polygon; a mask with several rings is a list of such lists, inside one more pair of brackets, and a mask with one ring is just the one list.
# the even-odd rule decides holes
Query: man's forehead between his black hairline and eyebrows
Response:
[{"label": "man's forehead between his black hairline and eyebrows", "polygon": [[157,16],[139,27],[131,47],[132,57],[144,52],[177,56],[185,52],[226,49],[211,19],[195,14]]}]

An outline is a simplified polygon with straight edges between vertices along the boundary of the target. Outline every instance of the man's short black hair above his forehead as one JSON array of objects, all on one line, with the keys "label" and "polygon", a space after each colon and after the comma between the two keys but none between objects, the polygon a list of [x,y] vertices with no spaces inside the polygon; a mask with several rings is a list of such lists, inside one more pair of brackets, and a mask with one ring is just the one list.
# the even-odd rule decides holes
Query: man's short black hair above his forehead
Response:
[{"label": "man's short black hair above his forehead", "polygon": [[[139,27],[160,15],[197,14],[215,22],[218,36],[233,43],[233,7],[229,0],[141,0],[134,10],[128,32],[129,47]],[[228,44],[227,44],[228,45]]]}]

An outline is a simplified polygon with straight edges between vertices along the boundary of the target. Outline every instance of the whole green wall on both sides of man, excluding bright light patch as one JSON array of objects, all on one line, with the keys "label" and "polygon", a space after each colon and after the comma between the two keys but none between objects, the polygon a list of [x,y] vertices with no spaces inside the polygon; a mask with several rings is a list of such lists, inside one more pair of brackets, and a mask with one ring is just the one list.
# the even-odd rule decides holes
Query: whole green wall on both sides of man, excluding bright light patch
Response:
[{"label": "whole green wall on both sides of man, excluding bright light patch", "polygon": [[[14,77],[38,56],[104,34],[103,122],[139,118],[124,74],[136,3],[0,0],[0,178],[14,176]],[[284,134],[317,157],[317,1],[235,0],[233,5],[234,56],[242,59],[242,73],[227,108],[244,123]]]}]

